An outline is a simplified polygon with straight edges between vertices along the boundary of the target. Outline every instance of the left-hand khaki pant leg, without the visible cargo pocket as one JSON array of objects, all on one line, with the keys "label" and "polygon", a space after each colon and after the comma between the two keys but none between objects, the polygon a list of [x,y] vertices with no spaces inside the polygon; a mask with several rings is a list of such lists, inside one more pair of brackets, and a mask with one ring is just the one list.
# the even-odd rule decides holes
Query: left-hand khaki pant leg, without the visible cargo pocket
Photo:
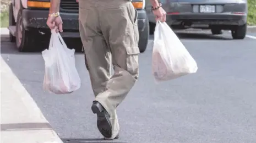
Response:
[{"label": "left-hand khaki pant leg, without the visible cargo pocket", "polygon": [[97,96],[106,89],[110,79],[111,53],[99,23],[96,4],[88,0],[79,1],[79,29],[84,46],[85,64],[88,68],[92,90]]}]

